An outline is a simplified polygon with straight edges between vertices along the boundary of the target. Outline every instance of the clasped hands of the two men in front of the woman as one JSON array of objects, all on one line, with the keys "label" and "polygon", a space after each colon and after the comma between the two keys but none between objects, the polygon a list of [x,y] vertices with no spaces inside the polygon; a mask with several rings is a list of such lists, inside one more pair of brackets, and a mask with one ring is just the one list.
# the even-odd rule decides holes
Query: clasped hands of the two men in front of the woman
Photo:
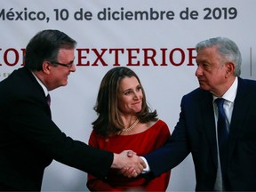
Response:
[{"label": "clasped hands of the two men in front of the woman", "polygon": [[120,154],[114,153],[111,165],[111,168],[120,169],[121,173],[128,178],[137,177],[146,167],[142,158],[132,150],[124,150]]}]

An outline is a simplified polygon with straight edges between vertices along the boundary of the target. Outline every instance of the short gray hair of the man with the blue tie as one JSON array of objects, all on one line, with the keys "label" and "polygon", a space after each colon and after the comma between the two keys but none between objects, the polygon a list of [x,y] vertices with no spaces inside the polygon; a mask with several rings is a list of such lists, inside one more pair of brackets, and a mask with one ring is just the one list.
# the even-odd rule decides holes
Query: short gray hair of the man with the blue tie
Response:
[{"label": "short gray hair of the man with the blue tie", "polygon": [[234,76],[240,76],[242,56],[236,43],[227,37],[210,38],[196,44],[196,52],[212,46],[216,46],[217,52],[220,53],[225,62],[231,61],[235,64]]}]

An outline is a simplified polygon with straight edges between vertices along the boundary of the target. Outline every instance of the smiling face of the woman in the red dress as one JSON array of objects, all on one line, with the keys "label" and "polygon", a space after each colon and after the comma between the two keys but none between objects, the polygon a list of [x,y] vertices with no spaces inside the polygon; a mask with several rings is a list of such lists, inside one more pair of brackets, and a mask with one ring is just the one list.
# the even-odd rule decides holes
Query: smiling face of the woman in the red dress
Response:
[{"label": "smiling face of the woman in the red dress", "polygon": [[119,84],[118,108],[125,115],[134,115],[140,112],[143,92],[135,76],[124,77]]}]

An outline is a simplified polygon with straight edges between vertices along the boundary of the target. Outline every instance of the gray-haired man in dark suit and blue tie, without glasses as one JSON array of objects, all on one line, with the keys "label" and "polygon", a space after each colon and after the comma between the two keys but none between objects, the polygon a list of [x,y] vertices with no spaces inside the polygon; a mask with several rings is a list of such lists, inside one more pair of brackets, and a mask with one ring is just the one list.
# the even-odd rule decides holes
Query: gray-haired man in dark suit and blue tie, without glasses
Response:
[{"label": "gray-haired man in dark suit and blue tie, without glasses", "polygon": [[[256,191],[256,82],[239,77],[241,53],[228,38],[205,40],[196,52],[200,88],[182,98],[168,143],[144,156],[151,174],[172,169],[191,152],[197,191]],[[220,160],[216,98],[225,99],[226,164]]]}]

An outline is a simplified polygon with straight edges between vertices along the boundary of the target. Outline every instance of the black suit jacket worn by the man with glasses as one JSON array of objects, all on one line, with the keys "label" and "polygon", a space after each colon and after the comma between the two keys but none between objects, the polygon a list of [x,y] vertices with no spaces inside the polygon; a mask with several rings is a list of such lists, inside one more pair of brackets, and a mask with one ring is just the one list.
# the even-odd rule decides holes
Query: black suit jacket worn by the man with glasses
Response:
[{"label": "black suit jacket worn by the man with glasses", "polygon": [[44,168],[52,159],[105,177],[113,154],[61,132],[52,122],[35,76],[20,68],[0,83],[0,183],[17,190],[40,190]]}]

